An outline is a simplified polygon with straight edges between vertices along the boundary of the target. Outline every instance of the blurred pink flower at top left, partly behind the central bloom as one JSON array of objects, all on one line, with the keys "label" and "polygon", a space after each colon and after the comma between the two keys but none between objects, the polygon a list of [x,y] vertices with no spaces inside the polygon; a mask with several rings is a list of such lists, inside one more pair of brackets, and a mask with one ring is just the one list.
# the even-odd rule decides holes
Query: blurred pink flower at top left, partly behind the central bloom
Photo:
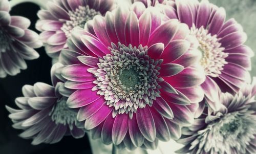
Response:
[{"label": "blurred pink flower at top left, partly behind the central bloom", "polygon": [[[40,10],[36,28],[41,31],[40,39],[45,43],[50,57],[58,57],[67,48],[67,38],[71,30],[83,28],[95,15],[104,15],[114,6],[114,0],[57,0],[48,2],[48,10]],[[89,22],[90,24],[90,22]]]}]

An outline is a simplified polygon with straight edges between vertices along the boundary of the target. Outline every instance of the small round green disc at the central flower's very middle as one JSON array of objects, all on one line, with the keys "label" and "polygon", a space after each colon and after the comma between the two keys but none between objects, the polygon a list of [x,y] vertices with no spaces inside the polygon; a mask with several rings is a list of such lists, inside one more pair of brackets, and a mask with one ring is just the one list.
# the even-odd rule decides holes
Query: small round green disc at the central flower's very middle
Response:
[{"label": "small round green disc at the central flower's very middle", "polygon": [[134,87],[140,82],[139,75],[134,69],[120,71],[119,80],[126,87]]}]

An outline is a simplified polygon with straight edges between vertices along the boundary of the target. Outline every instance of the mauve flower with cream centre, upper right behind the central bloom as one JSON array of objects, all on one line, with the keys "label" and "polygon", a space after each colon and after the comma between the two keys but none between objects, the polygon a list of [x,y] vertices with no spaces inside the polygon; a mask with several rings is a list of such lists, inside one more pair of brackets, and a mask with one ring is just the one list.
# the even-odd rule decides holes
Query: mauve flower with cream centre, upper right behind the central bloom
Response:
[{"label": "mauve flower with cream centre, upper right behind the central bloom", "polygon": [[[201,87],[208,105],[218,111],[219,87],[222,92],[236,93],[245,82],[250,82],[248,70],[251,69],[253,52],[243,45],[247,39],[243,28],[234,19],[225,22],[225,10],[207,0],[167,1],[158,6],[168,18],[178,18],[187,24],[190,34],[198,39],[198,49],[202,52],[200,63],[206,76]],[[201,102],[200,106],[204,103]]]}]

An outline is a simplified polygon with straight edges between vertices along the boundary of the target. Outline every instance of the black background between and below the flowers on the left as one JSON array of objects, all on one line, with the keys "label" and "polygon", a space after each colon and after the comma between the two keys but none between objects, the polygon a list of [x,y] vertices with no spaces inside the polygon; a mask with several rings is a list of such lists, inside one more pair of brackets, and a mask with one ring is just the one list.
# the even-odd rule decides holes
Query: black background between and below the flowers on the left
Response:
[{"label": "black background between and below the flowers on the left", "polygon": [[[13,7],[10,14],[29,18],[31,20],[30,29],[36,31],[35,23],[38,19],[36,15],[38,10],[39,7],[36,5],[24,3]],[[16,130],[12,127],[12,122],[8,118],[9,113],[5,105],[17,108],[14,100],[16,97],[23,96],[23,85],[33,85],[36,82],[51,84],[51,58],[46,55],[43,47],[36,49],[36,51],[40,54],[40,57],[36,60],[27,61],[27,70],[22,70],[16,76],[7,76],[4,79],[0,78],[0,154],[92,153],[87,136],[82,139],[64,137],[57,144],[33,146],[30,144],[32,140],[25,140],[18,137],[18,134],[22,133],[22,130]]]}]

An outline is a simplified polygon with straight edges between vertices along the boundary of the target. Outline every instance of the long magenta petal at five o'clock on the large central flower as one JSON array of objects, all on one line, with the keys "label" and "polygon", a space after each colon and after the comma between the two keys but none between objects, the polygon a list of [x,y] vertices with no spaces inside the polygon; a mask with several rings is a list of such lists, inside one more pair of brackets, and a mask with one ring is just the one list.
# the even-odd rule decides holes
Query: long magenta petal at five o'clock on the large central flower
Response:
[{"label": "long magenta petal at five o'clock on the large central flower", "polygon": [[170,133],[165,120],[154,108],[151,108],[151,113],[156,125],[156,137],[162,141],[169,141]]}]

